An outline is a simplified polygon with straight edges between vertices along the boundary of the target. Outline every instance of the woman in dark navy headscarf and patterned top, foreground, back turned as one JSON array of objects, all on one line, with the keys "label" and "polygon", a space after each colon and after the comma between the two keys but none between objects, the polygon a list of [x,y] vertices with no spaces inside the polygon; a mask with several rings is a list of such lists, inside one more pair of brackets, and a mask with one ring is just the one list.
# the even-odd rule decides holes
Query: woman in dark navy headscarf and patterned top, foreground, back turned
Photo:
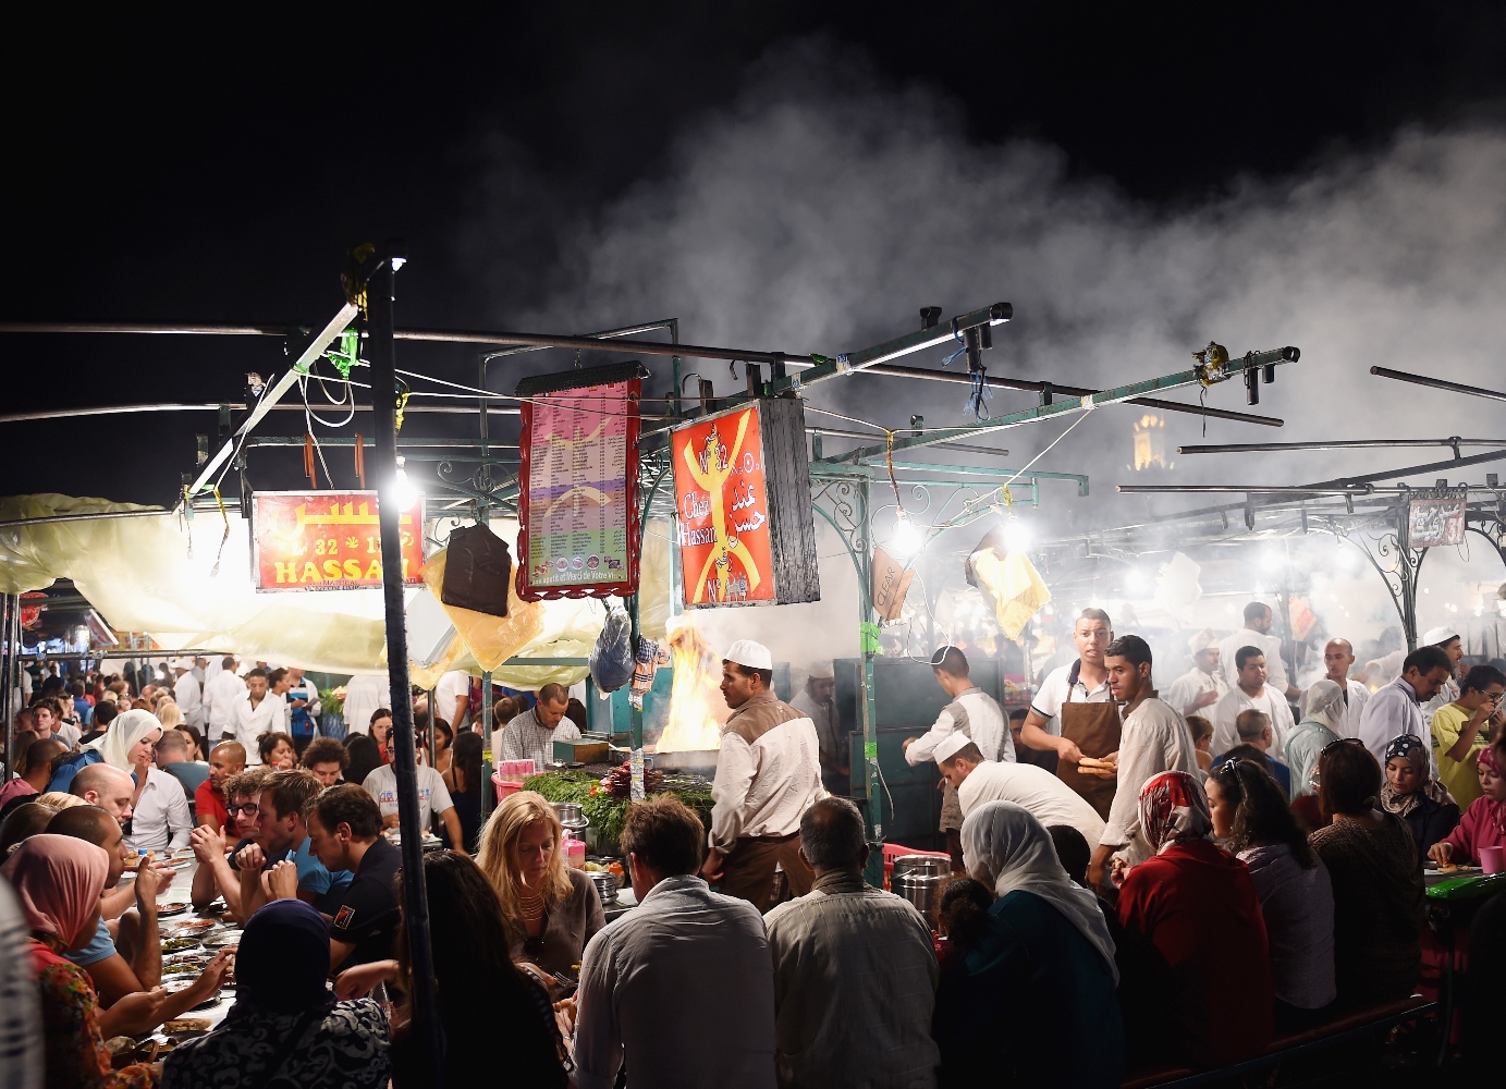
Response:
[{"label": "woman in dark navy headscarf and patterned top, foreground, back turned", "polygon": [[336,1002],[325,985],[330,926],[310,904],[277,899],[252,916],[235,975],[230,1012],[167,1056],[163,1089],[387,1084],[387,1011],[372,999]]}]

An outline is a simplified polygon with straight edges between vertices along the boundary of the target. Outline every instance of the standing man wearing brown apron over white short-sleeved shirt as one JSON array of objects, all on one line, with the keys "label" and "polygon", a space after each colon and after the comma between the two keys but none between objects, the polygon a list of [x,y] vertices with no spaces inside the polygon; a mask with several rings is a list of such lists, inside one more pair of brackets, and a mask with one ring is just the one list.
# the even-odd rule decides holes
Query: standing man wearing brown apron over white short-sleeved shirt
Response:
[{"label": "standing man wearing brown apron over white short-sleeved shirt", "polygon": [[1047,675],[1020,731],[1020,741],[1029,749],[1056,752],[1057,779],[1083,795],[1105,821],[1114,801],[1114,780],[1081,771],[1078,761],[1119,752],[1119,708],[1104,669],[1104,649],[1113,639],[1108,613],[1084,609],[1072,625],[1077,661]]}]

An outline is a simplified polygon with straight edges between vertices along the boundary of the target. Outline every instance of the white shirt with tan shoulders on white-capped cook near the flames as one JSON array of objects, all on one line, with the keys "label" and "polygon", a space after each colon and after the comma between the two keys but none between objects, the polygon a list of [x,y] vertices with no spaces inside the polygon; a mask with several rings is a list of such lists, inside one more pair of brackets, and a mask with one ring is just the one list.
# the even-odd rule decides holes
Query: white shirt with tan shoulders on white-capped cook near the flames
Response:
[{"label": "white shirt with tan shoulders on white-capped cook near the flames", "polygon": [[739,836],[788,836],[825,795],[816,724],[773,693],[736,708],[721,728],[711,785],[711,846],[730,851]]}]

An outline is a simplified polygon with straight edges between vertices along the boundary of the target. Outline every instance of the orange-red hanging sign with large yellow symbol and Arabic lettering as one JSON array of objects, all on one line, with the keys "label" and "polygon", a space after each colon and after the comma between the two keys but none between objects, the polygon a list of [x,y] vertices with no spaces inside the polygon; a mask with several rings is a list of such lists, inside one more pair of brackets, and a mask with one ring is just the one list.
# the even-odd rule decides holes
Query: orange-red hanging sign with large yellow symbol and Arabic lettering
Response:
[{"label": "orange-red hanging sign with large yellow symbol and Arabic lettering", "polygon": [[758,407],[679,428],[672,443],[685,604],[773,602]]}]

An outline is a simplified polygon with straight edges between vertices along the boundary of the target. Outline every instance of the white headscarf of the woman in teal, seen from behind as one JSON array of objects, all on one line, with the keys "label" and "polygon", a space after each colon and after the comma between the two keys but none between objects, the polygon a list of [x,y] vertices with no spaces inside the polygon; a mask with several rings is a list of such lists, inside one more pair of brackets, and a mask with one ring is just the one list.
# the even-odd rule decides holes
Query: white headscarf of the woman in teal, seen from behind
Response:
[{"label": "white headscarf of the woman in teal, seen from behind", "polygon": [[1072,881],[1056,857],[1045,827],[1012,801],[989,801],[962,821],[962,862],[967,872],[985,869],[994,875],[1000,898],[1018,890],[1035,893],[1060,911],[1108,962],[1114,984],[1114,941],[1098,907],[1098,898]]}]

